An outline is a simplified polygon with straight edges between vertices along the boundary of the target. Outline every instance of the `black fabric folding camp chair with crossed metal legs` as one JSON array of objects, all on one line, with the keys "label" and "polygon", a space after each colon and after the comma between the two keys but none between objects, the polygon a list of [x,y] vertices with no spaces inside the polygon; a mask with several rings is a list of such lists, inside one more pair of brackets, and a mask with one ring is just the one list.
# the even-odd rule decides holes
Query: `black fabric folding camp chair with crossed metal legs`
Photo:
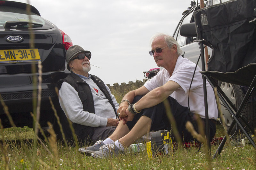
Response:
[{"label": "black fabric folding camp chair with crossed metal legs", "polygon": [[[231,0],[211,5],[195,11],[194,18],[201,56],[204,56],[204,44],[211,44],[213,49],[208,61],[208,70],[205,70],[204,57],[201,57],[208,146],[210,148],[206,79],[212,87],[217,87],[220,100],[234,118],[228,134],[237,124],[256,149],[248,131],[238,120],[256,87],[256,0]],[[240,106],[235,107],[232,104],[216,80],[249,86]],[[254,129],[249,126],[248,122],[243,118],[241,120],[254,134]],[[226,140],[227,136],[223,138],[213,158],[220,154]]]}]

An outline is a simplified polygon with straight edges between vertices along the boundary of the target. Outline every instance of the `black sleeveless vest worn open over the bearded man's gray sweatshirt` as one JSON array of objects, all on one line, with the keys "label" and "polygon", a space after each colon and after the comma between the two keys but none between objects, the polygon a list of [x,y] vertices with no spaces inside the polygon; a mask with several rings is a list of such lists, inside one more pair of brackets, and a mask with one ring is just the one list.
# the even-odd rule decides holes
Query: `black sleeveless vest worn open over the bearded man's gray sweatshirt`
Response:
[{"label": "black sleeveless vest worn open over the bearded man's gray sweatshirt", "polygon": [[[103,83],[102,80],[100,80],[100,78],[98,78],[97,76],[94,76],[91,74],[91,79],[93,80],[93,82],[100,88],[100,90],[104,93],[104,95],[106,96],[106,98],[108,99],[108,101],[110,102],[110,104],[112,105],[116,117],[117,113],[116,113],[116,108],[115,105],[112,101],[111,95],[108,93],[108,90],[105,86],[105,84]],[[61,79],[57,82],[57,87],[60,90],[60,87],[62,85],[63,82],[67,82],[68,84],[70,84],[72,87],[75,88],[75,90],[78,92],[78,96],[80,98],[80,100],[82,101],[83,104],[83,108],[84,111],[88,111],[90,113],[95,113],[94,110],[94,101],[93,101],[93,97],[92,97],[92,91],[90,86],[79,76],[77,76],[75,73],[71,72],[65,79]],[[65,121],[66,115],[64,113],[61,114],[61,117],[65,117],[62,118],[62,122],[67,122],[67,120]],[[61,119],[61,118],[60,118]],[[76,136],[78,138],[78,142],[79,143],[90,143],[91,142],[91,138],[93,135],[93,127],[90,126],[84,126],[81,124],[77,124],[77,123],[73,123],[73,128],[75,130]],[[65,125],[64,125],[65,126]],[[73,135],[71,133],[70,128],[68,127],[68,124],[66,125],[66,127],[63,129],[65,137],[67,139],[72,139]]]}]

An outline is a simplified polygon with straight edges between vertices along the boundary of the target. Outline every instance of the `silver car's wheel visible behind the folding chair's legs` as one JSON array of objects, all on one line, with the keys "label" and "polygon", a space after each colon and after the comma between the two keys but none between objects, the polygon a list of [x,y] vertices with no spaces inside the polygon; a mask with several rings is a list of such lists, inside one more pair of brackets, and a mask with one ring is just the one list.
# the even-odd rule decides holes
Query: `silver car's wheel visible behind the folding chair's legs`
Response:
[{"label": "silver car's wheel visible behind the folding chair's legs", "polygon": [[[233,85],[230,83],[218,82],[219,87],[221,90],[227,95],[228,99],[234,104],[234,106],[237,108],[240,106],[242,100],[244,99],[244,92],[241,89],[240,85]],[[225,124],[229,127],[230,124],[233,121],[233,118],[231,114],[228,112],[227,108],[223,105],[222,101],[221,103],[221,112],[224,115]],[[248,102],[244,110],[242,112],[242,116],[246,120],[246,122],[249,123],[249,125],[254,129],[256,127],[256,103],[254,102]],[[241,120],[241,118],[238,118],[238,120],[241,122],[243,127],[246,131],[249,129],[246,127],[245,123]],[[241,129],[237,126],[237,124],[234,126],[234,128],[231,130],[230,134],[231,136],[242,133]]]}]

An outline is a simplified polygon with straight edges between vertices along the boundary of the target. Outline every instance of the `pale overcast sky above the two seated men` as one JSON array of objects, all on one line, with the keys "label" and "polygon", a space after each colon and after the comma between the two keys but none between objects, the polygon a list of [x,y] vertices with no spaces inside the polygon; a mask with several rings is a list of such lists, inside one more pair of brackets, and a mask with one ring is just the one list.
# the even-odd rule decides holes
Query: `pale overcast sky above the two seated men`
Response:
[{"label": "pale overcast sky above the two seated men", "polygon": [[16,0],[70,36],[73,45],[92,53],[89,72],[105,84],[144,78],[157,65],[148,51],[155,33],[173,35],[191,0]]}]

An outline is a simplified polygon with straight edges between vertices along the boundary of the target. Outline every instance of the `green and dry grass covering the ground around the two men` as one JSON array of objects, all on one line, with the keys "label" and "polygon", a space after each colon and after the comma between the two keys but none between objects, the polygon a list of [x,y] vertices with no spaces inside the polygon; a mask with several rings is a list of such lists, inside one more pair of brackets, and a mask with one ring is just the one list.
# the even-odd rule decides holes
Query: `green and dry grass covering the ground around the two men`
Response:
[{"label": "green and dry grass covering the ground around the two men", "polygon": [[[136,87],[134,87],[136,88]],[[131,90],[131,89],[129,89]],[[112,89],[117,102],[120,103],[122,92]],[[125,92],[124,92],[125,93]],[[1,125],[1,124],[0,124]],[[40,129],[40,127],[39,127]],[[126,153],[118,157],[95,159],[78,152],[78,146],[63,146],[56,139],[53,131],[46,142],[35,141],[33,129],[9,128],[0,129],[0,169],[255,169],[256,152],[252,145],[230,146],[212,159],[207,156],[206,145],[198,152],[198,147],[184,148],[180,145],[168,155],[157,155],[148,158],[147,152],[138,154]],[[217,124],[217,137],[225,135],[224,128]],[[212,156],[218,145],[211,147]]]}]

